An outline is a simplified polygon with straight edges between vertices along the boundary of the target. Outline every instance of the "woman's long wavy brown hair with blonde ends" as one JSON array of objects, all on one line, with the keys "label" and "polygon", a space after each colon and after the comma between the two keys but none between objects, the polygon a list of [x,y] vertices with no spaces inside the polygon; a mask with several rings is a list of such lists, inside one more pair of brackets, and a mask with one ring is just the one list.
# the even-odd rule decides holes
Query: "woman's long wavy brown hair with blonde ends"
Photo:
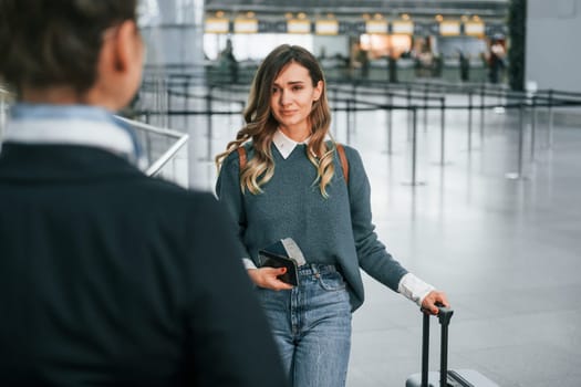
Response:
[{"label": "woman's long wavy brown hair with blonde ends", "polygon": [[311,137],[307,156],[317,168],[317,179],[313,184],[319,185],[321,195],[326,198],[326,186],[331,182],[335,171],[333,164],[334,142],[332,142],[331,147],[325,144],[331,125],[331,112],[326,101],[323,72],[317,59],[299,45],[279,45],[262,61],[252,81],[248,104],[243,112],[246,125],[238,130],[236,139],[228,143],[226,151],[216,156],[216,166],[219,171],[224,159],[229,154],[236,151],[248,140],[252,140],[255,151],[240,171],[240,189],[242,192],[248,189],[253,195],[262,192],[260,187],[274,175],[271,144],[278,128],[278,122],[270,108],[272,85],[280,72],[290,63],[305,67],[313,86],[317,86],[319,81],[323,83],[321,96],[313,102],[309,116]]}]

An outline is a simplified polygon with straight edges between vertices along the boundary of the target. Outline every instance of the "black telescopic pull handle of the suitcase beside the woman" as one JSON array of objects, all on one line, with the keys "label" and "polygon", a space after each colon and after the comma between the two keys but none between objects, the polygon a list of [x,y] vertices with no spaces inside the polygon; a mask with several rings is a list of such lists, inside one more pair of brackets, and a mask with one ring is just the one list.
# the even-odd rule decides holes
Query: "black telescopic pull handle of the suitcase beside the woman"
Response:
[{"label": "black telescopic pull handle of the suitcase beside the woman", "polygon": [[[447,387],[448,376],[448,325],[454,311],[442,304],[438,307],[438,321],[442,325],[442,346],[439,354],[439,386]],[[424,326],[422,334],[422,387],[428,387],[428,357],[429,357],[429,312],[422,308],[424,313]]]}]

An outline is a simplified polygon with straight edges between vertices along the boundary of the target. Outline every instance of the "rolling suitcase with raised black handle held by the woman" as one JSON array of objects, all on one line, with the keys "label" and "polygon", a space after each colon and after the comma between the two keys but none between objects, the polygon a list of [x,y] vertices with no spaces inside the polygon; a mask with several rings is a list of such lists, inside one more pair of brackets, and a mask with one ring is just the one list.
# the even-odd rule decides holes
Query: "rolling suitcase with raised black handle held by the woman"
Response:
[{"label": "rolling suitcase with raised black handle held by the woman", "polygon": [[499,387],[474,369],[448,370],[448,325],[454,314],[449,307],[440,306],[437,315],[442,325],[439,373],[428,372],[429,314],[424,312],[423,314],[422,373],[409,376],[405,381],[405,387]]}]

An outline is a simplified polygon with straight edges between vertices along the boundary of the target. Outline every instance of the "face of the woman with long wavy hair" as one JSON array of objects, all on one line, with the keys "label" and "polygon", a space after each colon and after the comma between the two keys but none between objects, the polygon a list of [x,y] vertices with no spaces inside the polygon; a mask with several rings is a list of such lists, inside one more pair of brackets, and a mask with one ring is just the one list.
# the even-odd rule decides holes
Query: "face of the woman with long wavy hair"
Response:
[{"label": "face of the woman with long wavy hair", "polygon": [[313,102],[321,97],[323,82],[313,87],[309,70],[291,62],[279,73],[272,84],[270,108],[279,128],[295,142],[311,135],[309,115]]}]

